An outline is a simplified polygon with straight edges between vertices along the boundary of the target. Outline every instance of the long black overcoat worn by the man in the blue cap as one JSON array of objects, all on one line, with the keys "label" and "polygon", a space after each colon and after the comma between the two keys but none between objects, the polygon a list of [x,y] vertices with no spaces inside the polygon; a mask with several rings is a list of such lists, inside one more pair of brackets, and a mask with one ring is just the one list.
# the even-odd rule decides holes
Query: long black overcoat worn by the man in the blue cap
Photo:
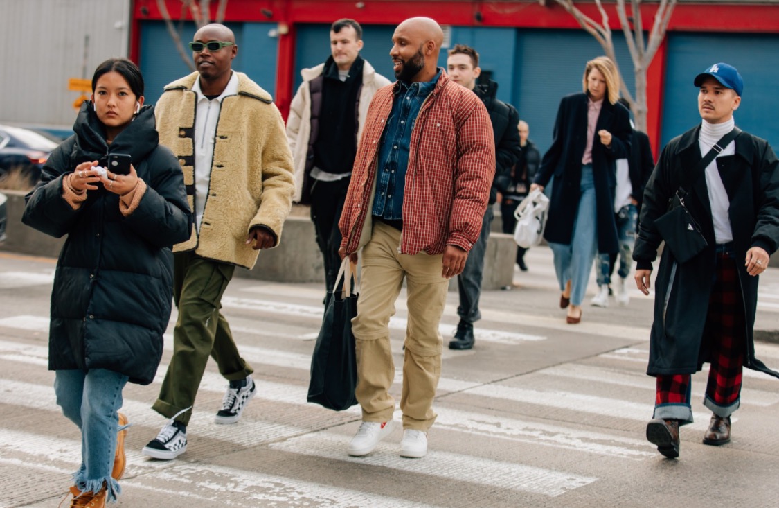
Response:
[{"label": "long black overcoat worn by the man in the blue cap", "polygon": [[[647,182],[639,235],[633,249],[633,259],[640,270],[651,270],[662,240],[654,220],[668,210],[668,199],[679,189],[682,173],[696,168],[702,158],[699,132],[700,125],[671,139]],[[734,155],[717,157],[716,161],[730,200],[728,214],[746,316],[745,365],[779,377],[779,373],[767,369],[755,358],[753,326],[759,277],[750,276],[744,266],[746,251],[751,247],[762,247],[769,255],[777,249],[779,161],[765,140],[746,132],[735,139]],[[663,249],[654,280],[654,323],[647,369],[650,376],[697,372],[707,361],[707,353],[700,346],[709,295],[714,287],[715,240],[706,178],[698,178],[685,203],[700,224],[709,246],[684,264],[676,262],[671,249]],[[674,206],[678,206],[678,199]]]}]

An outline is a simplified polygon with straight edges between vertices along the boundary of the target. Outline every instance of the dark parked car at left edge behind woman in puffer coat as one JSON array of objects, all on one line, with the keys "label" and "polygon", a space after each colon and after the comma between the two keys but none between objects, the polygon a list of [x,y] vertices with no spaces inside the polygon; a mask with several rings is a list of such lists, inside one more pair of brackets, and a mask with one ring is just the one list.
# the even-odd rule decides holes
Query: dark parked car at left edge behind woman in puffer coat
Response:
[{"label": "dark parked car at left edge behind woman in puffer coat", "polygon": [[37,182],[41,168],[58,144],[30,129],[0,125],[0,178],[19,168],[30,182]]}]

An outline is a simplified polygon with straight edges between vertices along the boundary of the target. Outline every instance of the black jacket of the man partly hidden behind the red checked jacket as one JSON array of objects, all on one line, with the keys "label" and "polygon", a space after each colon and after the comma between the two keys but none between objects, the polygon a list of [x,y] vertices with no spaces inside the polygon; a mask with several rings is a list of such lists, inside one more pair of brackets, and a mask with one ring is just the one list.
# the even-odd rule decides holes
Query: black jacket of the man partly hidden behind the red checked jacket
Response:
[{"label": "black jacket of the man partly hidden behind the red checked jacket", "polygon": [[495,177],[489,191],[489,204],[492,204],[498,198],[499,188],[511,178],[511,168],[520,158],[520,132],[516,129],[516,124],[520,123],[520,114],[511,104],[495,97],[498,93],[498,83],[495,81],[477,85],[474,93],[487,108],[495,136]]}]

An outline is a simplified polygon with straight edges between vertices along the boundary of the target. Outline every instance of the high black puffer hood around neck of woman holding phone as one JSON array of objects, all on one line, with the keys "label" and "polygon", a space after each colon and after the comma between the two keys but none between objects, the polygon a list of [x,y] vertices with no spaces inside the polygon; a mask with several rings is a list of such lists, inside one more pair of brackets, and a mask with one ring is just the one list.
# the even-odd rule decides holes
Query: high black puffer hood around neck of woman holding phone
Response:
[{"label": "high black puffer hood around neck of woman holding phone", "polygon": [[73,132],[76,132],[76,145],[73,147],[72,161],[97,161],[108,153],[129,153],[132,164],[138,166],[160,142],[154,119],[154,107],[143,106],[135,120],[119,133],[109,147],[105,140],[105,127],[97,118],[92,101],[81,104]]}]

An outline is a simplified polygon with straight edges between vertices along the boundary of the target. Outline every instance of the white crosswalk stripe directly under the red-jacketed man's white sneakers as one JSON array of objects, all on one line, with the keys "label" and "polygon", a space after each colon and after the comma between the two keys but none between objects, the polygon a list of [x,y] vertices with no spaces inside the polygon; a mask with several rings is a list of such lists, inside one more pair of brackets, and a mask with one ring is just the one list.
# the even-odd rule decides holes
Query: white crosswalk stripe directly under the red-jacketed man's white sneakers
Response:
[{"label": "white crosswalk stripe directly under the red-jacketed man's white sneakers", "polygon": [[313,457],[426,474],[430,478],[473,482],[495,489],[511,489],[551,497],[597,481],[597,478],[580,474],[435,450],[429,452],[425,460],[404,459],[398,455],[397,443],[387,441],[379,443],[376,450],[365,457],[344,457],[348,440],[347,436],[319,432],[272,443],[270,447]]}]

